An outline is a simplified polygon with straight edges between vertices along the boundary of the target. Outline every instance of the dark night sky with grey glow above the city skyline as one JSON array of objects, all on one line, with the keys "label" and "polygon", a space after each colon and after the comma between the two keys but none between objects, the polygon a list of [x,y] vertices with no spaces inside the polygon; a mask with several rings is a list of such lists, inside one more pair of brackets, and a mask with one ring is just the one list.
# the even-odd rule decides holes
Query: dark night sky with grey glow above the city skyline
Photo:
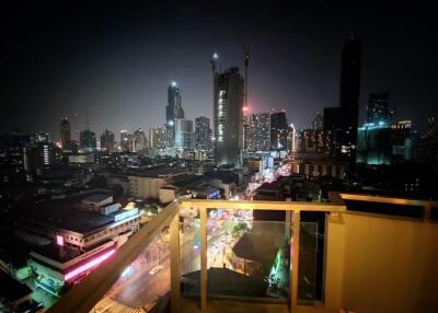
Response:
[{"label": "dark night sky with grey glow above the city skyline", "polygon": [[251,112],[285,108],[306,127],[316,111],[338,105],[341,51],[351,34],[362,39],[361,112],[370,92],[388,91],[394,119],[424,130],[438,114],[436,11],[418,1],[34,2],[1,9],[0,132],[58,139],[60,117],[82,129],[85,111],[97,136],[155,127],[172,80],[186,117],[210,117],[210,56],[243,72],[245,44]]}]

